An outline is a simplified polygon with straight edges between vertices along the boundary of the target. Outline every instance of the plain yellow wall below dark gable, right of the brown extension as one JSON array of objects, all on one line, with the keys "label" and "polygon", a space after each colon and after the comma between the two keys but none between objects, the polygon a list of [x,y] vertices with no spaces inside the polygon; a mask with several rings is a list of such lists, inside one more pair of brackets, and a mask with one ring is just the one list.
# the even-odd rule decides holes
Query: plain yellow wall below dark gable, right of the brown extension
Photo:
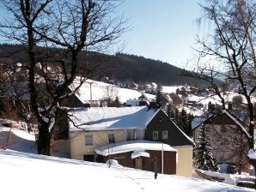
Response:
[{"label": "plain yellow wall below dark gable, right of the brown extension", "polygon": [[192,177],[192,146],[174,148],[178,150],[176,174],[178,176]]}]

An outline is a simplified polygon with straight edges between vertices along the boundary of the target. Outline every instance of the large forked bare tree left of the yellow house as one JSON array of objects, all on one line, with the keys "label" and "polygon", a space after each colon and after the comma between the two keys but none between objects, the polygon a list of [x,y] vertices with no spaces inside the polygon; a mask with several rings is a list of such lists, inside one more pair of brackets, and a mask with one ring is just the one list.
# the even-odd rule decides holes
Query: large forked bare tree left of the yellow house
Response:
[{"label": "large forked bare tree left of the yellow house", "polygon": [[[39,123],[38,153],[51,155],[59,102],[69,96],[77,70],[88,61],[88,54],[83,63],[78,57],[82,51],[104,51],[113,45],[125,30],[124,21],[111,16],[116,5],[109,0],[3,0],[3,6],[13,16],[2,23],[2,35],[27,51],[22,66]],[[76,90],[94,68],[83,69],[87,71]]]}]

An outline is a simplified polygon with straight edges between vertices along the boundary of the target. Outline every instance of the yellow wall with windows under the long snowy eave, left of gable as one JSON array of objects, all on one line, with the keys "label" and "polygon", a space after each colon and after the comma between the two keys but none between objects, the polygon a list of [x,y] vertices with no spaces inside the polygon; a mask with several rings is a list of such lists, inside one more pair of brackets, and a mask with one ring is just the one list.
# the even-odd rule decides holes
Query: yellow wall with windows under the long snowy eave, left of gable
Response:
[{"label": "yellow wall with windows under the long snowy eave, left of gable", "polygon": [[[83,160],[83,155],[94,154],[97,147],[108,143],[108,134],[114,134],[116,142],[125,141],[124,130],[76,131],[70,133],[70,158]],[[85,135],[93,135],[93,145],[85,145]]]}]

